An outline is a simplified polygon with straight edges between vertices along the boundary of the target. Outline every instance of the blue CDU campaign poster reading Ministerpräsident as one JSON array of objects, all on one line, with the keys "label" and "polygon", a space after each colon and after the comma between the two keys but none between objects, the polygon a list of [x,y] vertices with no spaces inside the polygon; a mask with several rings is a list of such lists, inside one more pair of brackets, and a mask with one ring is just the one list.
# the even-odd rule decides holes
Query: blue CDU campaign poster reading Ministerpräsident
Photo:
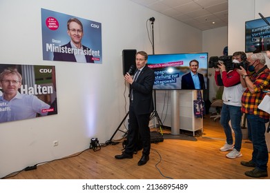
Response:
[{"label": "blue CDU campaign poster reading Ministerpr\u00e4sident", "polygon": [[102,63],[102,23],[41,8],[43,59]]}]

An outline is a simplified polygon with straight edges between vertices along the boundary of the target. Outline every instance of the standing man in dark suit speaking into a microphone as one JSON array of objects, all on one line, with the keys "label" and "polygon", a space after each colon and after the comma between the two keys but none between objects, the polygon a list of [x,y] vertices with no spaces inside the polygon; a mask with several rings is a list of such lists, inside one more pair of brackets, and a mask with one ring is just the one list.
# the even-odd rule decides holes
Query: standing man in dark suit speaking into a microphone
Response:
[{"label": "standing man in dark suit speaking into a microphone", "polygon": [[144,51],[136,54],[137,70],[133,77],[126,73],[125,81],[130,83],[130,105],[129,105],[129,128],[127,144],[121,155],[116,155],[115,159],[132,159],[135,152],[137,140],[142,141],[142,158],[137,163],[144,165],[149,160],[151,148],[151,135],[149,121],[151,112],[154,110],[153,105],[153,85],[155,73],[146,65],[148,54]]}]

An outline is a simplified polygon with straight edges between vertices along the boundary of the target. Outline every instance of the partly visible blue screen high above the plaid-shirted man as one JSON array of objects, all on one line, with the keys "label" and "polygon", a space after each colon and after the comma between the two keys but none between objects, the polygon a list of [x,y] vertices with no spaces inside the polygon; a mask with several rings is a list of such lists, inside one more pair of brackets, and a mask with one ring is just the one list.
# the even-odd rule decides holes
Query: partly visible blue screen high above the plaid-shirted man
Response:
[{"label": "partly visible blue screen high above the plaid-shirted man", "polygon": [[[270,17],[265,18],[270,22]],[[263,19],[245,22],[245,52],[270,50],[270,26]]]}]

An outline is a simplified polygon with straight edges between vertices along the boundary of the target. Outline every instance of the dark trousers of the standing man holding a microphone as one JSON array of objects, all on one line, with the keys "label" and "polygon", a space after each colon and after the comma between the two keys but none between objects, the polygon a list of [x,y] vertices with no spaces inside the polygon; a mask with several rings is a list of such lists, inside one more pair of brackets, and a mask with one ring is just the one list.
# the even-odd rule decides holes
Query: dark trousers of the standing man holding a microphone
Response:
[{"label": "dark trousers of the standing man holding a microphone", "polygon": [[[136,114],[134,112],[133,103],[129,107],[129,127],[127,144],[125,148],[126,154],[133,154],[139,142],[142,143],[142,154],[148,156],[151,148],[151,135],[149,128],[150,113]],[[138,141],[140,140],[140,141]]]}]

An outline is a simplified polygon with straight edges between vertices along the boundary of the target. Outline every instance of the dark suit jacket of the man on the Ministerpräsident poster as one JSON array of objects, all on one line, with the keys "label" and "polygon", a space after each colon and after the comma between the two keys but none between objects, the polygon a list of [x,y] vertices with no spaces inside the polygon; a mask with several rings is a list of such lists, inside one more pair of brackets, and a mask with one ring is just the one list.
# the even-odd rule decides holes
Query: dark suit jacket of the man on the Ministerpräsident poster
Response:
[{"label": "dark suit jacket of the man on the Ministerpr\u00e4sident poster", "polygon": [[[61,48],[62,47],[71,48],[71,44],[70,44],[70,42],[68,42],[66,45],[62,45]],[[84,50],[90,50],[89,48],[87,48],[84,45],[82,45],[82,48]],[[86,57],[87,63],[94,63],[92,56],[85,55],[85,57]],[[75,62],[77,62],[74,54],[61,53],[61,52],[54,52],[53,53],[53,60],[54,61],[75,61]]]}]

